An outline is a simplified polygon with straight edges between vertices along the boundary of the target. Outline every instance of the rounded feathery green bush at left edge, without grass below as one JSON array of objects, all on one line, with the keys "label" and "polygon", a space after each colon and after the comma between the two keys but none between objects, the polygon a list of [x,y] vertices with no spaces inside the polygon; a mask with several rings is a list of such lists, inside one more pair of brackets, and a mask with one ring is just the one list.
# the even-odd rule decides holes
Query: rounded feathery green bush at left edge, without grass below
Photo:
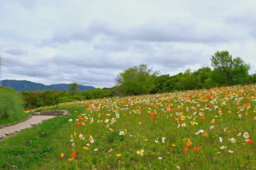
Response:
[{"label": "rounded feathery green bush at left edge, without grass below", "polygon": [[9,88],[0,88],[0,119],[15,117],[24,111],[24,102],[18,92]]}]

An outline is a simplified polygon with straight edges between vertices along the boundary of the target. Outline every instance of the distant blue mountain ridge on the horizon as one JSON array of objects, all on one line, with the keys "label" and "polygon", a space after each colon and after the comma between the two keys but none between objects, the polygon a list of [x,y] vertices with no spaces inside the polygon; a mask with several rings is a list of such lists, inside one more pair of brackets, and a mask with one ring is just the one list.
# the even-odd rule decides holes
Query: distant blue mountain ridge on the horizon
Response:
[{"label": "distant blue mountain ridge on the horizon", "polygon": [[[44,85],[41,83],[34,83],[26,80],[2,80],[2,87],[8,87],[16,90],[17,92],[30,91],[30,90],[67,90],[69,84],[51,84]],[[87,91],[94,89],[92,86],[80,86],[80,91]]]}]

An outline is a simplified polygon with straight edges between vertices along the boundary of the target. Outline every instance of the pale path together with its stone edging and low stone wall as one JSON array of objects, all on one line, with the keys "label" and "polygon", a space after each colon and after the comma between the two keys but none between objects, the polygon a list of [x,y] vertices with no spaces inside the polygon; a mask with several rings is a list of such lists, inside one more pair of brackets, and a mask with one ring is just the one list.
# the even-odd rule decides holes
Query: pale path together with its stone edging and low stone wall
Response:
[{"label": "pale path together with its stone edging and low stone wall", "polygon": [[[43,123],[44,121],[51,119],[56,116],[62,115],[70,115],[66,110],[50,110],[50,111],[41,111],[41,112],[34,112],[31,113],[32,116],[23,119],[22,121],[14,122],[17,123],[16,125],[8,126],[12,123],[9,123],[7,126],[2,125],[2,129],[0,129],[0,141],[9,137],[10,135],[19,133],[24,129],[31,128],[35,125]],[[19,123],[21,122],[21,123]]]}]

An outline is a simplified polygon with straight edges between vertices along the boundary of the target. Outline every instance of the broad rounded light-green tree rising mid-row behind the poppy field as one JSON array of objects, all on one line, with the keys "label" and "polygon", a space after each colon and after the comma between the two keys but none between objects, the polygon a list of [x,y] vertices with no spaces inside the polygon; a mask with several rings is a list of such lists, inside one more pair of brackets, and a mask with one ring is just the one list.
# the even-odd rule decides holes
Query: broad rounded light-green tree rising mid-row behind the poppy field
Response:
[{"label": "broad rounded light-green tree rising mid-row behind the poppy field", "polygon": [[154,80],[160,74],[147,64],[130,67],[115,78],[116,85],[123,86],[126,95],[148,94],[155,87]]}]

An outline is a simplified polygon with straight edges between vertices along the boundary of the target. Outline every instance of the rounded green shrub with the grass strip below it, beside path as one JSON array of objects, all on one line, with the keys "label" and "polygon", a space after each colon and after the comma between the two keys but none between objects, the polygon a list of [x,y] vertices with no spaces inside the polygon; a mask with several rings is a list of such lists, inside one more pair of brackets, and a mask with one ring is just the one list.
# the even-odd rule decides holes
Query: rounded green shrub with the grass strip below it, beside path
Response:
[{"label": "rounded green shrub with the grass strip below it, beside path", "polygon": [[0,125],[20,121],[29,116],[24,113],[24,102],[18,92],[0,88]]}]

